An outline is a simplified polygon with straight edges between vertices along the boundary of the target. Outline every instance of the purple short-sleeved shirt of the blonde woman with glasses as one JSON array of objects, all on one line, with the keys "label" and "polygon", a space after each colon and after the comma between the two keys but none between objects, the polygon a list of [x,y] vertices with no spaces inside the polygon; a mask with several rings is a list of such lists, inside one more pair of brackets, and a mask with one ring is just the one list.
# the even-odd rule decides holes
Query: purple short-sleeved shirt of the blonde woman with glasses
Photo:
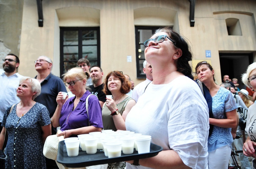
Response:
[{"label": "purple short-sleeved shirt of the blonde woman with glasses", "polygon": [[59,124],[60,130],[77,129],[81,127],[90,126],[103,128],[101,107],[98,98],[95,95],[91,95],[88,99],[88,114],[86,111],[86,98],[90,92],[87,90],[80,98],[79,104],[74,108],[75,97],[69,98],[61,108]]}]

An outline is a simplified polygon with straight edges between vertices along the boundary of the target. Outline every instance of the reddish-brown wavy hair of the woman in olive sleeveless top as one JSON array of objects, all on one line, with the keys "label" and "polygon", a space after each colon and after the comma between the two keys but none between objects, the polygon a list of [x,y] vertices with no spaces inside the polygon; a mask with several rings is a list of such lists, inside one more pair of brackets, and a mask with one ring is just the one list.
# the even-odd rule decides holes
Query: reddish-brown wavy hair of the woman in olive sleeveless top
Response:
[{"label": "reddish-brown wavy hair of the woman in olive sleeveless top", "polygon": [[109,88],[108,88],[108,81],[109,81],[109,77],[111,75],[114,76],[114,77],[117,77],[119,80],[121,80],[121,88],[120,88],[121,93],[126,94],[130,91],[131,84],[128,82],[128,80],[125,78],[125,76],[119,71],[112,71],[112,72],[109,72],[109,74],[106,76],[106,79],[105,79],[105,82],[104,82],[105,85],[104,85],[104,88],[103,88],[102,91],[106,95],[111,95],[112,94],[110,92]]}]

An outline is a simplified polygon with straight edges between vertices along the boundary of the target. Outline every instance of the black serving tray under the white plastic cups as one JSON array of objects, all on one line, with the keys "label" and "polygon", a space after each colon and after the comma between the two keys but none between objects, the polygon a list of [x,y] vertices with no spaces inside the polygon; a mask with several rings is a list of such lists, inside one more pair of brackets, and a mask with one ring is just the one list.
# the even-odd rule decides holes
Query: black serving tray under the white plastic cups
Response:
[{"label": "black serving tray under the white plastic cups", "polygon": [[66,145],[63,140],[59,142],[57,162],[65,167],[87,167],[99,164],[117,163],[122,161],[153,157],[162,151],[162,149],[162,147],[151,143],[149,153],[138,154],[138,151],[134,149],[132,154],[123,154],[122,152],[120,157],[109,158],[105,156],[102,150],[97,150],[97,153],[95,154],[87,154],[86,151],[82,151],[82,149],[79,148],[79,154],[77,156],[69,157],[67,154]]}]

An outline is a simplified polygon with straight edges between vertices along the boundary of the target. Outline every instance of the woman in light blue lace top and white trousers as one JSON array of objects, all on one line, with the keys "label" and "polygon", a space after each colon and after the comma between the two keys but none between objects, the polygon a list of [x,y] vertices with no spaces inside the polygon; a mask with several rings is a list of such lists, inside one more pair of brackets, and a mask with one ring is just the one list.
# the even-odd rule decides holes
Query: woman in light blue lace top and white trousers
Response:
[{"label": "woman in light blue lace top and white trousers", "polygon": [[237,126],[237,105],[231,92],[214,82],[214,70],[208,62],[199,62],[196,73],[212,96],[214,118],[209,118],[213,125],[212,134],[208,137],[209,169],[227,169],[233,142],[231,128]]}]

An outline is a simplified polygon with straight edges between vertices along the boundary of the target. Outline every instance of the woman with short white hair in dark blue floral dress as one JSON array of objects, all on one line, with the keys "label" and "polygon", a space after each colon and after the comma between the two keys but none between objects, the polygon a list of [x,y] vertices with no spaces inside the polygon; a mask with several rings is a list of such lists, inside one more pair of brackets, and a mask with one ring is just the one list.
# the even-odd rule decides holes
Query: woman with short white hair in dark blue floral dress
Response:
[{"label": "woman with short white hair in dark blue floral dress", "polygon": [[23,77],[17,89],[20,102],[14,105],[11,112],[12,105],[5,111],[0,149],[6,129],[6,169],[46,169],[43,144],[46,137],[51,135],[51,121],[47,108],[34,101],[40,92],[41,86],[37,79]]}]

